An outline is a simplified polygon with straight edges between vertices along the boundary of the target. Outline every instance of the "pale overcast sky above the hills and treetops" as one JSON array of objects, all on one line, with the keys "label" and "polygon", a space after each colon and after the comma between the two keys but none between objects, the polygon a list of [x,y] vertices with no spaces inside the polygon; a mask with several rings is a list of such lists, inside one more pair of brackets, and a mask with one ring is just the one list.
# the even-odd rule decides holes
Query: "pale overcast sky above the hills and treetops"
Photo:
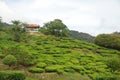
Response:
[{"label": "pale overcast sky above the hills and treetops", "polygon": [[0,0],[0,16],[40,26],[61,19],[70,30],[96,36],[120,31],[120,0]]}]

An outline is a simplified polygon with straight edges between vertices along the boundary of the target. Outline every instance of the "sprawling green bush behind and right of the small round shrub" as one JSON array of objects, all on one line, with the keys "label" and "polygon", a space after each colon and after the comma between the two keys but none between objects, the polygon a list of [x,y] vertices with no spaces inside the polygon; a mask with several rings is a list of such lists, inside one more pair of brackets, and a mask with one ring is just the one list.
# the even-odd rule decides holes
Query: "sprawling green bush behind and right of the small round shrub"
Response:
[{"label": "sprawling green bush behind and right of the small round shrub", "polygon": [[24,66],[35,64],[35,57],[24,46],[13,46],[5,50],[6,54],[12,54],[16,57],[17,62]]}]

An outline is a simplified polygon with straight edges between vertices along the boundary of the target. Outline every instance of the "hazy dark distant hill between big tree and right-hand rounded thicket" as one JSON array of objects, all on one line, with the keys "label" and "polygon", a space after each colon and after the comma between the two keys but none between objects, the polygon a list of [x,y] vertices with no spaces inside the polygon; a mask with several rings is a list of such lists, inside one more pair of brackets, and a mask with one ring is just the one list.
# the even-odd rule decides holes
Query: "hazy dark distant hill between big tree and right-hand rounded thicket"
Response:
[{"label": "hazy dark distant hill between big tree and right-hand rounded thicket", "polygon": [[78,32],[74,30],[70,31],[70,36],[74,39],[84,40],[87,42],[93,42],[93,39],[95,38],[88,33]]}]

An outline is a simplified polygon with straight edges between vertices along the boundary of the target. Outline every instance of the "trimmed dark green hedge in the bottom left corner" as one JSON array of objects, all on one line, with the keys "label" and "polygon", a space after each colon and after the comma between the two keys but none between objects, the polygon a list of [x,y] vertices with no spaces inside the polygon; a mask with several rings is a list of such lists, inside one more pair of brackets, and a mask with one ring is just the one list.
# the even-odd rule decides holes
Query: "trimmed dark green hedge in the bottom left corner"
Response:
[{"label": "trimmed dark green hedge in the bottom left corner", "polygon": [[25,80],[25,78],[22,71],[0,71],[0,80]]}]

